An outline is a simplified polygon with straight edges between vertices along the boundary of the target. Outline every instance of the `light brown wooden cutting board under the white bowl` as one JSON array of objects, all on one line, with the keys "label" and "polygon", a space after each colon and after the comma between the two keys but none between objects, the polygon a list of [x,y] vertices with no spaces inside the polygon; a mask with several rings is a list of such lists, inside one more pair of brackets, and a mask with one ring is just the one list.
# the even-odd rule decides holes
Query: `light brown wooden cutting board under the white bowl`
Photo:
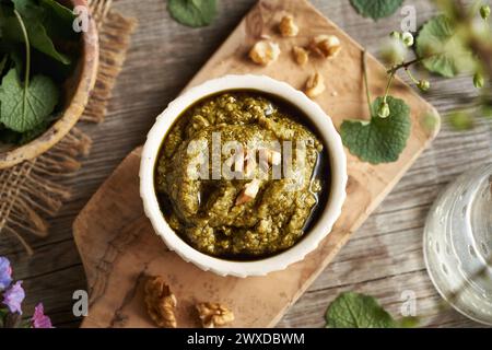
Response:
[{"label": "light brown wooden cutting board under the white bowl", "polygon": [[[295,38],[284,39],[277,34],[277,24],[285,12],[295,14],[301,27]],[[292,60],[292,46],[304,46],[317,34],[337,35],[342,51],[333,60],[312,60],[300,68]],[[267,68],[247,59],[250,47],[265,35],[277,40],[282,49],[280,59]],[[367,116],[361,57],[361,46],[307,1],[261,0],[188,86],[227,73],[257,73],[302,89],[308,75],[318,71],[326,78],[327,90],[316,101],[339,127],[345,118]],[[382,95],[385,68],[374,58],[367,59],[372,93]],[[90,291],[89,316],[82,326],[152,327],[142,302],[145,275],[161,275],[168,281],[178,300],[180,327],[199,326],[194,305],[206,301],[229,305],[236,316],[234,327],[274,326],[435,137],[440,124],[429,130],[421,122],[430,113],[438,119],[434,108],[399,80],[391,93],[411,106],[412,132],[399,161],[371,165],[347,152],[348,198],[335,229],[303,261],[267,277],[219,277],[167,250],[143,214],[138,177],[141,150],[131,152],[73,225]]]}]

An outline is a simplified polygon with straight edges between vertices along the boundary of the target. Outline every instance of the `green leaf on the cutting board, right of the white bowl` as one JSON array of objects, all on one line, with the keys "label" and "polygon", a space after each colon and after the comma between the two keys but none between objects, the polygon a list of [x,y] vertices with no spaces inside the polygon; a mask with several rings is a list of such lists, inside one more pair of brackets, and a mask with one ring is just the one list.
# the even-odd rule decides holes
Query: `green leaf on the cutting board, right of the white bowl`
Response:
[{"label": "green leaf on the cutting board, right of the white bowl", "polygon": [[[387,96],[390,114],[371,120],[344,120],[341,125],[343,144],[364,162],[390,163],[398,160],[410,136],[410,107],[405,101]],[[372,110],[379,110],[383,97],[376,98]]]}]

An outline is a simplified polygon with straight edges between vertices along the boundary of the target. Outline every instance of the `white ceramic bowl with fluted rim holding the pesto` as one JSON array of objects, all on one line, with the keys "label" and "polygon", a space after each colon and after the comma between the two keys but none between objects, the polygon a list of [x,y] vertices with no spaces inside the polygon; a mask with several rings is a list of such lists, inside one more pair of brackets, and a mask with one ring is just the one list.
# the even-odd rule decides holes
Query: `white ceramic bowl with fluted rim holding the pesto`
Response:
[{"label": "white ceramic bowl with fluted rim holding the pesto", "polygon": [[[161,212],[154,187],[154,168],[157,163],[163,139],[179,115],[197,101],[211,94],[249,89],[277,95],[300,108],[316,127],[330,155],[331,188],[326,208],[315,225],[306,232],[303,240],[290,249],[254,261],[231,261],[200,253],[183,241],[167,224]],[[140,165],[140,195],[147,215],[155,232],[164,240],[167,247],[175,250],[183,259],[192,262],[202,270],[221,276],[265,276],[272,271],[283,270],[289,265],[302,260],[313,252],[331,231],[341,212],[345,199],[347,159],[343,145],[331,119],[323,109],[304,93],[291,85],[265,75],[226,75],[207,81],[192,88],[172,102],[157,117],[148,135]]]}]

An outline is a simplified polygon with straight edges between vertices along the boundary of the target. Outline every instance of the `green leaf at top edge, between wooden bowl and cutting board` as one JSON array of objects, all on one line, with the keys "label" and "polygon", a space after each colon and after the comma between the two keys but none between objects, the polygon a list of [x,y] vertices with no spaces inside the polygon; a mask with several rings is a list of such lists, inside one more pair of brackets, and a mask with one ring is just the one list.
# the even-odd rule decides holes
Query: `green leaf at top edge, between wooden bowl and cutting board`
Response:
[{"label": "green leaf at top edge, between wooden bowl and cutting board", "polygon": [[167,11],[184,25],[207,26],[216,15],[216,0],[168,0]]}]

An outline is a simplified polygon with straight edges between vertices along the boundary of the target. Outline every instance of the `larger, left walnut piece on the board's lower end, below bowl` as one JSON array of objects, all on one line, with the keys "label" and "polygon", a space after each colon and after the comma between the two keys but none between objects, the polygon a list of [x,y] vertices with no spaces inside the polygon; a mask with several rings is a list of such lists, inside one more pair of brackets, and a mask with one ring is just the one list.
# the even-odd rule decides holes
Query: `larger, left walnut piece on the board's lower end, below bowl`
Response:
[{"label": "larger, left walnut piece on the board's lower end, below bowl", "polygon": [[144,285],[144,302],[152,320],[161,328],[176,328],[176,296],[161,276],[149,277]]}]

